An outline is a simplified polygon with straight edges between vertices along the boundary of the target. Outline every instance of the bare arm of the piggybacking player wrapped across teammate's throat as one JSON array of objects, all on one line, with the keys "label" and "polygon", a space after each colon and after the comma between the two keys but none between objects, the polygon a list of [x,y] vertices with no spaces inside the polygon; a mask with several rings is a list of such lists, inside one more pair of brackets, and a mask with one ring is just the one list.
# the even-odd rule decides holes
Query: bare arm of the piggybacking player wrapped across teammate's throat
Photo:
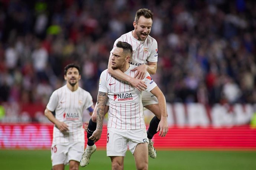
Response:
[{"label": "bare arm of the piggybacking player wrapped across teammate's throat", "polygon": [[120,69],[113,69],[112,68],[112,54],[109,56],[108,60],[108,73],[113,75],[115,78],[118,78],[122,81],[129,82],[132,86],[137,88],[139,91],[144,91],[147,88],[147,85],[144,81],[140,79],[133,78],[131,76],[128,76],[127,74],[124,74]]}]

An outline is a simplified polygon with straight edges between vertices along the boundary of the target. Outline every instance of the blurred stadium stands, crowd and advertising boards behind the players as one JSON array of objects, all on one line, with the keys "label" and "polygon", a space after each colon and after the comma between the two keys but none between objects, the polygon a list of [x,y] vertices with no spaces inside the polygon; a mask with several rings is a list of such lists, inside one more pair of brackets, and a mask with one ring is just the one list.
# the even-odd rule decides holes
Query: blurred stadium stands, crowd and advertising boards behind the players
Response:
[{"label": "blurred stadium stands, crowd and advertising boards behind the players", "polygon": [[154,13],[152,78],[168,102],[169,133],[156,148],[256,150],[253,0],[0,0],[1,149],[49,149],[43,110],[66,64],[81,65],[81,86],[96,101],[109,51],[139,8]]}]

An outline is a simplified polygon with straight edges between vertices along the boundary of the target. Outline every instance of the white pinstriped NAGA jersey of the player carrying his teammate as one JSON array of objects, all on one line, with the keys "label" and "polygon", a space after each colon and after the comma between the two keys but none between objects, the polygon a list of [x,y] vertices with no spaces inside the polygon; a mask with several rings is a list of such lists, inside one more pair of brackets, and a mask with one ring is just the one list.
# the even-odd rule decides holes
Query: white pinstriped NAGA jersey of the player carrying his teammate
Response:
[{"label": "white pinstriped NAGA jersey of the player carrying his teammate", "polygon": [[[133,77],[137,71],[131,71],[131,69],[136,67],[130,64],[129,69],[124,73]],[[147,85],[146,91],[151,91],[157,86],[148,72],[143,81]],[[108,127],[117,129],[145,128],[142,92],[128,82],[116,79],[108,73],[107,69],[101,74],[99,91],[108,93]]]}]

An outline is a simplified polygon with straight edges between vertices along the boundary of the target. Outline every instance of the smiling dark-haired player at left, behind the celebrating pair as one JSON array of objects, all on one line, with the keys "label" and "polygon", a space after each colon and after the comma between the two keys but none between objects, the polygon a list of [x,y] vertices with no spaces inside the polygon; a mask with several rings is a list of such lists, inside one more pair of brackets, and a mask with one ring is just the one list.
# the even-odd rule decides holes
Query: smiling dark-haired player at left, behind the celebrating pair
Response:
[{"label": "smiling dark-haired player at left, behind the celebrating pair", "polygon": [[85,146],[83,110],[88,109],[92,115],[94,107],[91,94],[78,86],[81,79],[78,65],[67,65],[64,78],[66,85],[52,93],[45,109],[45,116],[55,124],[51,147],[52,169],[64,170],[69,163],[70,170],[78,170]]}]

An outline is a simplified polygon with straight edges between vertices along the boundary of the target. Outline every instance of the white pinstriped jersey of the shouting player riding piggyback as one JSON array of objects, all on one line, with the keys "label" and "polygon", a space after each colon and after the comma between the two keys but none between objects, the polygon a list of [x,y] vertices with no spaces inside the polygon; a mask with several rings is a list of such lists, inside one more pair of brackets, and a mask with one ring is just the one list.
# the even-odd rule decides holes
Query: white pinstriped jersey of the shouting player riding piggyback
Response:
[{"label": "white pinstriped jersey of the shouting player riding piggyback", "polygon": [[132,36],[132,31],[129,33],[123,34],[119,37],[115,43],[114,47],[111,50],[111,54],[116,48],[116,43],[118,41],[127,42],[132,45],[132,57],[130,58],[129,63],[135,66],[140,66],[142,64],[147,64],[147,61],[157,62],[158,50],[157,50],[157,41],[152,38],[150,35],[146,38],[145,41],[139,41]]}]

